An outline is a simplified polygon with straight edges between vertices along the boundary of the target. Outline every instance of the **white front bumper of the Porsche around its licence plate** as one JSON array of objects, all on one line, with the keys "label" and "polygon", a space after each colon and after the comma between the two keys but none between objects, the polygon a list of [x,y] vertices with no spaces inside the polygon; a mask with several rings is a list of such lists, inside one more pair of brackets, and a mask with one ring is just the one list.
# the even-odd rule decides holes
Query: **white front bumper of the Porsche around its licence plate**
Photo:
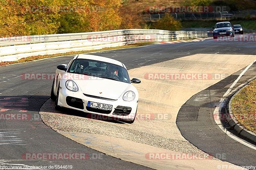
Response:
[{"label": "white front bumper of the Porsche around its licence plate", "polygon": [[[70,103],[67,103],[67,97],[71,97],[71,98],[76,98],[76,99],[81,99],[82,102],[80,102],[80,105],[83,105],[83,109],[82,108],[77,108],[77,107],[72,107],[70,106]],[[89,111],[87,110],[87,103],[88,101],[91,102],[96,102],[96,103],[101,103],[101,104],[107,104],[107,105],[112,105],[112,110],[110,113],[100,113],[100,110],[98,110],[97,112],[94,111]],[[94,97],[88,97],[85,96],[83,92],[78,91],[78,92],[72,92],[69,91],[66,88],[60,88],[60,92],[59,92],[59,100],[58,100],[58,105],[61,107],[66,107],[66,108],[70,108],[70,109],[75,109],[78,111],[83,111],[85,113],[91,113],[91,114],[97,114],[97,115],[102,115],[102,116],[108,116],[113,118],[114,120],[133,120],[137,111],[137,106],[138,106],[138,100],[134,99],[133,101],[124,101],[122,99],[122,96],[115,101],[112,100],[104,100],[104,99],[98,99],[98,98],[94,98]],[[114,110],[116,107],[118,106],[122,106],[122,107],[131,107],[131,113],[129,115],[115,115]],[[96,116],[97,117],[97,116]],[[97,119],[101,119],[102,117],[97,117]],[[102,118],[103,119],[103,118]],[[109,120],[113,120],[113,119],[109,119]]]}]

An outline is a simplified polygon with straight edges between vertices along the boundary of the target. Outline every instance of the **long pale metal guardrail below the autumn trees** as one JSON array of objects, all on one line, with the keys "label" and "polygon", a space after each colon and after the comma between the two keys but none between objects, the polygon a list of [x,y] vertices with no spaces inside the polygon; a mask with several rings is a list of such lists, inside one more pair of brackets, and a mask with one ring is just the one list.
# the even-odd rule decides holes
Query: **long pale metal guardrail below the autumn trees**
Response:
[{"label": "long pale metal guardrail below the autumn trees", "polygon": [[0,62],[17,61],[34,55],[94,50],[138,42],[159,42],[200,37],[207,37],[207,31],[126,29],[7,37],[0,38]]}]

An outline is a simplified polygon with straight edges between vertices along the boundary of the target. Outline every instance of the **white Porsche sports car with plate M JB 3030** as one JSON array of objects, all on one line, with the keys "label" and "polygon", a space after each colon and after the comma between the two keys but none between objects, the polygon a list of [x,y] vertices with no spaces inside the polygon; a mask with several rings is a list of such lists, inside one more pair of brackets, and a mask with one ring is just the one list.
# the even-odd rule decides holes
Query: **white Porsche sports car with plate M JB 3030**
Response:
[{"label": "white Porsche sports car with plate M JB 3030", "polygon": [[139,94],[123,63],[97,55],[75,55],[57,65],[51,99],[66,107],[133,123]]}]

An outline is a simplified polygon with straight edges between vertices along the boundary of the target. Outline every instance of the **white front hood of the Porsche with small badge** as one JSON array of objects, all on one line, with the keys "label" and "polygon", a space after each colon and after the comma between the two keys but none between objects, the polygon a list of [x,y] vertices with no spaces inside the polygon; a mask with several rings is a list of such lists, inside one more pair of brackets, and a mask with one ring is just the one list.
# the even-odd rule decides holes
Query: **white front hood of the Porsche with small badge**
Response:
[{"label": "white front hood of the Porsche with small badge", "polygon": [[88,79],[85,80],[74,81],[84,94],[114,100],[117,100],[124,93],[124,91],[128,91],[127,89],[132,86],[129,83],[124,83],[121,81],[110,80],[106,78],[96,78],[91,76],[88,76]]}]

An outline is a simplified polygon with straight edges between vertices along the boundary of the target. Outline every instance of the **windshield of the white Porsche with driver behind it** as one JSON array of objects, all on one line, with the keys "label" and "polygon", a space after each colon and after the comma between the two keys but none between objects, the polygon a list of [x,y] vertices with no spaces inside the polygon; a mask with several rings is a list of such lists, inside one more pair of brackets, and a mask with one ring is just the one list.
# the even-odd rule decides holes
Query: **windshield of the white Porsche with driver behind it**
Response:
[{"label": "windshield of the white Porsche with driver behind it", "polygon": [[97,60],[75,59],[67,72],[131,83],[124,67]]}]

